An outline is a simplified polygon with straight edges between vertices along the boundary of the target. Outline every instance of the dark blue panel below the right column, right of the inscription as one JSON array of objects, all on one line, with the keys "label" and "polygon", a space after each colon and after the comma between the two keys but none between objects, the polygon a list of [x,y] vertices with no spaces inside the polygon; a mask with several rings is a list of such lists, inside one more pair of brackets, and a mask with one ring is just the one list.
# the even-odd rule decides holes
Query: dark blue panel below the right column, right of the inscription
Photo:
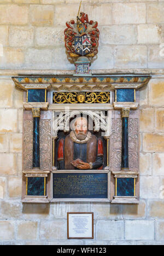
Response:
[{"label": "dark blue panel below the right column, right of the inscription", "polygon": [[133,178],[118,178],[117,182],[118,196],[134,196],[134,179]]}]

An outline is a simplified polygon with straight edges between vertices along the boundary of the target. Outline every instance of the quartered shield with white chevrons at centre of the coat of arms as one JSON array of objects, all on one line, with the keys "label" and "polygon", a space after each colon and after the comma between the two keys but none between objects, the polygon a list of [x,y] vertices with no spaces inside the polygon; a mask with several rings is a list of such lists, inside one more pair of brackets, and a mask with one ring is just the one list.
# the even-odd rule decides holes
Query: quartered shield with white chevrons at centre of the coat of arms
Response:
[{"label": "quartered shield with white chevrons at centre of the coat of arms", "polygon": [[86,36],[74,37],[75,53],[81,56],[90,54],[91,51],[91,38]]}]

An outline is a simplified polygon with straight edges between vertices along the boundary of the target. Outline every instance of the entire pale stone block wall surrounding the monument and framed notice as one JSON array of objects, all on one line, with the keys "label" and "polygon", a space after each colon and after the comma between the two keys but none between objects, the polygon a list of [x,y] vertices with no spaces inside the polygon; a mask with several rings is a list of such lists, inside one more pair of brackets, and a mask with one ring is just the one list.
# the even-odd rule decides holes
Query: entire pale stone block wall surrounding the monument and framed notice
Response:
[{"label": "entire pale stone block wall surrounding the monument and framed notice", "polygon": [[[91,68],[152,73],[140,90],[140,203],[21,203],[23,92],[15,74],[74,69],[63,42],[78,0],[2,0],[0,4],[0,244],[164,244],[164,1],[87,0],[99,22],[99,54]],[[163,47],[164,48],[164,47]],[[52,70],[54,69],[54,70]],[[94,240],[67,240],[67,212],[93,211]]]}]

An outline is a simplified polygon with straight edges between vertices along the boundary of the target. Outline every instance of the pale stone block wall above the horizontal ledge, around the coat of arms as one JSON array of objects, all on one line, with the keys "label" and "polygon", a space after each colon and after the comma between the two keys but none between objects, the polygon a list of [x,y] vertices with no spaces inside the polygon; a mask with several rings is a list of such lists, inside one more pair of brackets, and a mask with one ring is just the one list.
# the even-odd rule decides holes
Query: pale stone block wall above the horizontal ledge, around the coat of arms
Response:
[{"label": "pale stone block wall above the horizontal ledge, around the coat of arms", "polygon": [[[76,18],[79,2],[2,0],[0,68],[74,69],[63,31],[66,21]],[[83,0],[81,10],[98,21],[101,31],[92,68],[164,68],[163,0]]]}]

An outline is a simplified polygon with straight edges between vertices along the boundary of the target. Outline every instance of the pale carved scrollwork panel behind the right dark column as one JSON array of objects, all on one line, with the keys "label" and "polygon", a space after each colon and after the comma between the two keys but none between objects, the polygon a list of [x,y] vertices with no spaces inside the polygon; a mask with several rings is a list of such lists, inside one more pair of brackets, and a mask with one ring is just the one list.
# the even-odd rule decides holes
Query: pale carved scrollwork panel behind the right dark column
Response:
[{"label": "pale carved scrollwork panel behind the right dark column", "polygon": [[[128,120],[128,156],[130,169],[138,168],[138,119]],[[112,135],[110,136],[110,167],[112,170],[121,168],[122,120],[112,119]]]}]

